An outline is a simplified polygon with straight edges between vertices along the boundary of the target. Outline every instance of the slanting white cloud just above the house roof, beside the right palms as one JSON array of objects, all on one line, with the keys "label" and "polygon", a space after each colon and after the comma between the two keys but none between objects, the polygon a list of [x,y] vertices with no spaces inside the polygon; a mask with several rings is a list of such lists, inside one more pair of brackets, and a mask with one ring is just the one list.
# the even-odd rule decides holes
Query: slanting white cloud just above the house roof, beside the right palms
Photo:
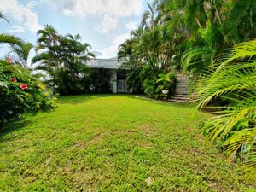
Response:
[{"label": "slanting white cloud just above the house roof, beside the right palms", "polygon": [[119,35],[113,39],[113,43],[106,49],[103,49],[101,58],[109,58],[116,56],[118,52],[119,44],[125,42],[126,39],[130,38],[129,33]]}]

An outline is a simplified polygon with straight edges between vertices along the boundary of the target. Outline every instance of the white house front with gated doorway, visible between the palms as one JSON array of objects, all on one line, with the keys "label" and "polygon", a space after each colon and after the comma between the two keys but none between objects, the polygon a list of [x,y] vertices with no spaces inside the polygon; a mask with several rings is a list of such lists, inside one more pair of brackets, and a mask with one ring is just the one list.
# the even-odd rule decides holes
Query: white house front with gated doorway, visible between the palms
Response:
[{"label": "white house front with gated doorway, visible between the palms", "polygon": [[126,82],[126,70],[119,68],[120,63],[116,58],[91,59],[88,66],[93,70],[100,68],[108,70],[108,73],[111,74],[110,82],[113,93],[131,93]]}]

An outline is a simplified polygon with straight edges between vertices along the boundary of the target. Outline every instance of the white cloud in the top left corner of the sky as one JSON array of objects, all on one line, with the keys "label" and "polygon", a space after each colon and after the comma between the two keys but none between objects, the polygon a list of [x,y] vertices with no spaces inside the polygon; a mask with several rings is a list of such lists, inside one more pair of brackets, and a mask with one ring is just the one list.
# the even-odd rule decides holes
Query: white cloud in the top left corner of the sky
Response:
[{"label": "white cloud in the top left corner of the sky", "polygon": [[[10,16],[14,21],[12,32],[37,32],[42,28],[38,22],[38,15],[32,11],[35,2],[21,4],[17,0],[1,0],[0,10]],[[26,30],[25,30],[26,29]]]}]

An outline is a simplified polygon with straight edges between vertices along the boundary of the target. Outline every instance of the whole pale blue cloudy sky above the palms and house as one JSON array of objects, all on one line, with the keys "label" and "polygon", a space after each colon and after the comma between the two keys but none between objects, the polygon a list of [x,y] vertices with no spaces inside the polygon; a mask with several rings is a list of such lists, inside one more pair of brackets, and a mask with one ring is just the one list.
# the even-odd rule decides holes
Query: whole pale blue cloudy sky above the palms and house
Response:
[{"label": "whole pale blue cloudy sky above the palms and house", "polygon": [[[151,0],[0,0],[0,11],[9,24],[0,20],[0,32],[13,34],[36,44],[38,29],[49,24],[62,35],[82,36],[100,58],[117,54],[118,45],[139,25]],[[0,45],[0,56],[9,53]]]}]

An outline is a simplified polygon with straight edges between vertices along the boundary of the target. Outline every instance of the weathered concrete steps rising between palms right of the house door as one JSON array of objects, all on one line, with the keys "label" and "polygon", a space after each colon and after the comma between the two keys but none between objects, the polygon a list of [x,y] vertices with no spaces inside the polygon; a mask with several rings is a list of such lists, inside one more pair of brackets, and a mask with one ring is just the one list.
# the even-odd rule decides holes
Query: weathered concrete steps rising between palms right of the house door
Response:
[{"label": "weathered concrete steps rising between palms right of the house door", "polygon": [[172,96],[169,102],[183,102],[189,103],[189,77],[182,73],[177,73],[177,86],[175,90],[175,96]]}]

